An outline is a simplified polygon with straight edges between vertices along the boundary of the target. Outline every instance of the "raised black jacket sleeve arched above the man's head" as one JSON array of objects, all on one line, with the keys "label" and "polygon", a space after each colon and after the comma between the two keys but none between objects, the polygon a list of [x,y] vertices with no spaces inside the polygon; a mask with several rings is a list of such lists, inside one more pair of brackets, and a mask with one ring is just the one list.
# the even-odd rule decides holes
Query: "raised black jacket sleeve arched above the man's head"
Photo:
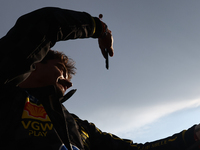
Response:
[{"label": "raised black jacket sleeve arched above the man's head", "polygon": [[58,41],[97,38],[101,21],[88,13],[46,7],[21,16],[0,39],[0,86],[17,85]]}]

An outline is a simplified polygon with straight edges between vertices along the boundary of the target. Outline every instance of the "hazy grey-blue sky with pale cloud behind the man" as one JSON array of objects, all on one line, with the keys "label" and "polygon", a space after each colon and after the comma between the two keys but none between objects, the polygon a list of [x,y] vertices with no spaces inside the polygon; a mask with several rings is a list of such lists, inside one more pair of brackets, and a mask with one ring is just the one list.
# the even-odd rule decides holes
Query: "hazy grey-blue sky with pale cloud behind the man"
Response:
[{"label": "hazy grey-blue sky with pale cloud behind the man", "polygon": [[153,141],[200,123],[200,1],[6,0],[0,36],[16,19],[55,6],[104,15],[115,55],[105,69],[96,39],[59,42],[76,61],[76,94],[64,105],[103,131]]}]

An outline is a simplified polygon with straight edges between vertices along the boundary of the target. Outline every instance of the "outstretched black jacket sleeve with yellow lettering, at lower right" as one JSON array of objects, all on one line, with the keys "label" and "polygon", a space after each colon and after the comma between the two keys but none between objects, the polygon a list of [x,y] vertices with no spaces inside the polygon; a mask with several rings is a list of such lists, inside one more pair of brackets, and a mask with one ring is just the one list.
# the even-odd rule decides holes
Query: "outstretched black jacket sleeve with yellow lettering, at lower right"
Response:
[{"label": "outstretched black jacket sleeve with yellow lettering, at lower right", "polygon": [[79,125],[79,132],[85,146],[95,150],[197,150],[194,138],[194,126],[173,136],[154,142],[133,143],[131,140],[121,139],[113,134],[102,132],[94,124],[80,120],[74,115]]}]

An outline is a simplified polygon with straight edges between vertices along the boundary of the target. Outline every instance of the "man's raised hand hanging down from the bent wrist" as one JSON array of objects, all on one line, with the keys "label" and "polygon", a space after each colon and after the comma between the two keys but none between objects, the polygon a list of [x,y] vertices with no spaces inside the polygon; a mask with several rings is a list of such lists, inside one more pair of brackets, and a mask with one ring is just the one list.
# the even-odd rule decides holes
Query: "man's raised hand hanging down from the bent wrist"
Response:
[{"label": "man's raised hand hanging down from the bent wrist", "polygon": [[107,32],[102,37],[98,38],[99,48],[101,49],[102,55],[106,58],[106,50],[112,57],[114,55],[113,49],[113,36],[112,32],[107,29]]}]

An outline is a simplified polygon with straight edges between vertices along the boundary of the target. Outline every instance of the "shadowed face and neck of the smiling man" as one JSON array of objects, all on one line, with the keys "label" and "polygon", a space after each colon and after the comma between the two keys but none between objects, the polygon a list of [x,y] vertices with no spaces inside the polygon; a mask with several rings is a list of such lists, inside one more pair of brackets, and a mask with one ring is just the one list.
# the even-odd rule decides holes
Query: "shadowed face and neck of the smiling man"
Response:
[{"label": "shadowed face and neck of the smiling man", "polygon": [[37,63],[36,70],[31,73],[31,78],[37,83],[35,87],[54,85],[60,96],[63,96],[65,91],[72,86],[65,65],[59,59]]}]

